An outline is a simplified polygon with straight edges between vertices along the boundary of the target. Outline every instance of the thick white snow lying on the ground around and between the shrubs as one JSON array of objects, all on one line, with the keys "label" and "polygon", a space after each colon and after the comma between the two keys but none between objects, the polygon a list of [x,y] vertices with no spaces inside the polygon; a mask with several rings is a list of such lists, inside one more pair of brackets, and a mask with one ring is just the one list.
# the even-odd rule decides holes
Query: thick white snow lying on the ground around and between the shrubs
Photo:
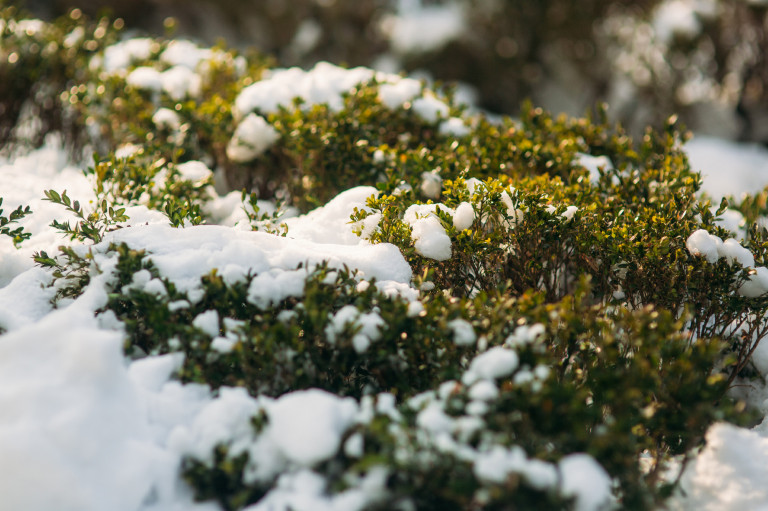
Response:
[{"label": "thick white snow lying on the ground around and between the shrubs", "polygon": [[[706,138],[688,149],[712,197],[754,192],[768,184],[764,149]],[[274,424],[267,440],[262,439],[269,451],[262,455],[274,458],[277,452],[279,459],[302,465],[339,448],[341,432],[362,413],[353,400],[320,391],[277,400],[252,399],[237,389],[214,396],[206,387],[170,378],[180,363],[176,355],[130,362],[122,355],[119,326],[94,315],[106,300],[105,282],[99,279],[78,299],[52,310],[52,290],[41,286],[50,276],[33,267],[31,259],[34,251],[56,253],[63,243],[48,227],[54,218],[62,219],[62,209],[41,200],[50,188],[66,189],[83,203],[93,198],[90,183],[68,164],[55,139],[29,155],[0,161],[6,213],[21,204],[35,212],[21,223],[33,233],[21,249],[0,239],[0,327],[6,330],[0,336],[0,508],[218,509],[192,501],[179,479],[179,462],[188,454],[210,455],[225,437],[245,438],[248,420],[259,409]],[[239,201],[231,197],[213,204],[216,216],[228,225],[176,230],[162,225],[167,223],[163,215],[135,207],[128,211],[133,226],[109,239],[149,249],[160,271],[181,286],[212,268],[233,279],[248,270],[267,272],[271,285],[262,286],[255,299],[277,300],[292,292],[290,270],[298,262],[328,260],[332,266],[359,268],[380,285],[407,294],[410,268],[397,249],[360,244],[347,232],[350,212],[372,191],[349,190],[325,208],[289,220],[287,239],[233,227],[242,214]],[[198,319],[205,328],[206,318]],[[768,362],[765,355],[761,351],[758,362]],[[766,397],[756,391],[752,401],[768,413]],[[707,439],[682,479],[684,494],[672,507],[768,509],[768,430],[719,424]],[[380,485],[375,473],[370,477],[360,488],[373,491]],[[252,509],[296,503],[290,499],[299,497],[310,502],[306,509],[353,509],[349,501],[364,499],[346,495],[344,504],[324,498],[312,493],[320,491],[315,483],[312,472],[296,472]]]}]

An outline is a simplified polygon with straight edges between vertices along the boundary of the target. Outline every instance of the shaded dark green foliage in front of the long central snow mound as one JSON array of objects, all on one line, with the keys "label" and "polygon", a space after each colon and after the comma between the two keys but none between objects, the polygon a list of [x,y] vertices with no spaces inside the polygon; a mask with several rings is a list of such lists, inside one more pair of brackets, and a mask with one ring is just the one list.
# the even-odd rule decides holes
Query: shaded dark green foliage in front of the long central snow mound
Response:
[{"label": "shaded dark green foliage in front of the long central snow mound", "polygon": [[[721,363],[722,342],[692,338],[685,321],[664,310],[631,312],[595,304],[587,279],[555,303],[543,292],[515,298],[510,289],[462,300],[437,293],[423,297],[424,312],[414,315],[408,314],[404,300],[381,295],[375,285],[361,291],[349,274],[326,267],[307,274],[301,298],[266,308],[248,300],[250,278],[228,285],[214,273],[202,279],[204,295],[199,301],[176,309],[169,304],[186,295],[170,282],[165,281],[167,295],[162,296],[130,288],[140,270],[159,277],[147,254],[125,245],[109,250],[118,255],[118,264],[106,310],[126,325],[127,352],[138,356],[181,351],[186,355],[178,373],[182,381],[214,388],[240,386],[253,395],[323,388],[358,398],[391,392],[405,403],[442,382],[457,380],[449,410],[460,416],[470,400],[468,387],[458,380],[477,348],[456,346],[449,322],[469,319],[490,346],[520,337],[520,325],[545,325],[542,335],[515,344],[515,350],[518,373],[548,367],[548,376],[538,383],[518,382],[515,373],[500,381],[501,394],[482,415],[486,428],[475,441],[486,435],[497,444],[517,445],[528,456],[553,462],[563,454],[587,452],[618,479],[627,508],[645,509],[661,499],[668,483],[660,475],[669,457],[689,452],[713,421],[739,417],[739,405],[724,400],[728,369]],[[364,352],[354,348],[359,326],[350,324],[333,337],[329,334],[334,314],[348,305],[384,320],[381,337]],[[198,314],[210,310],[219,314],[220,334],[235,341],[228,353],[213,349],[212,338],[191,326]],[[402,410],[404,422],[398,427],[416,428],[413,412]],[[746,419],[742,415],[740,420]],[[482,486],[471,466],[462,468],[452,455],[439,452],[428,466],[398,461],[395,452],[401,440],[389,436],[389,429],[377,421],[367,428],[366,455],[359,461],[329,462],[329,481],[334,480],[334,470],[341,470],[338,463],[343,470],[357,470],[371,456],[370,462],[396,467],[389,482],[391,504],[410,496],[420,503],[419,509],[438,503],[444,509],[470,506]],[[413,443],[405,448],[416,453],[425,447]],[[641,455],[650,456],[650,472],[641,470]],[[263,494],[262,483],[243,486],[247,455],[227,457],[217,451],[214,457],[210,467],[192,459],[186,462],[186,477],[200,498],[215,498],[227,509],[238,509]],[[494,501],[524,507],[555,498],[520,484],[493,489]],[[495,507],[488,503],[485,508]]]}]

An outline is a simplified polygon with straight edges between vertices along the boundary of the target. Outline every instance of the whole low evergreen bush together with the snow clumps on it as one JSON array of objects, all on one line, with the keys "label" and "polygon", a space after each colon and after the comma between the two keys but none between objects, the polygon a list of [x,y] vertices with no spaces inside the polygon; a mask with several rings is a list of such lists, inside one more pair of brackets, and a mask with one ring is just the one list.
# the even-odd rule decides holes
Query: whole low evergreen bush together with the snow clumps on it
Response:
[{"label": "whole low evergreen bush together with the snow clumps on it", "polygon": [[[711,424],[752,418],[726,391],[760,377],[765,196],[697,195],[673,119],[491,122],[367,68],[3,13],[33,86],[0,101],[103,154],[92,194],[5,197],[0,239],[41,268],[0,302],[29,281],[45,305],[0,313],[0,346],[46,314],[119,337],[213,509],[647,509]],[[33,45],[61,74],[14,66]]]}]

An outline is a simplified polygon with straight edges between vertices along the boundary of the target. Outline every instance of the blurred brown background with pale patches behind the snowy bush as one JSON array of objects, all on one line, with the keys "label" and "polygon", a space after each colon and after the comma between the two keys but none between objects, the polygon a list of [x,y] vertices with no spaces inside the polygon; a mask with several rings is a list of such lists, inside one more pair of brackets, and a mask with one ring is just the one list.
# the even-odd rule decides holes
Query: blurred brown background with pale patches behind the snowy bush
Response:
[{"label": "blurred brown background with pale patches behind the snowy bush", "polygon": [[671,114],[700,134],[768,145],[768,0],[27,0],[52,19],[111,13],[129,33],[457,82],[515,115],[524,99],[631,132]]}]

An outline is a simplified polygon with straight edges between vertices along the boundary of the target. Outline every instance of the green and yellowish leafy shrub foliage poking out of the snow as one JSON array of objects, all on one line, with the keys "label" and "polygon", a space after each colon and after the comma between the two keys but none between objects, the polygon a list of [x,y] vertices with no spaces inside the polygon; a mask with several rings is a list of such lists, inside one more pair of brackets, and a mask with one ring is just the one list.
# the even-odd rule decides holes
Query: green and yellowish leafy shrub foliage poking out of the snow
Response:
[{"label": "green and yellowish leafy shrub foliage poking out of the snow", "polygon": [[[3,93],[0,103],[46,109],[53,127],[72,140],[91,137],[106,155],[85,171],[98,198],[87,211],[65,192],[46,192],[79,219],[54,227],[85,242],[35,256],[53,272],[57,303],[109,272],[99,315],[119,320],[127,356],[183,353],[176,377],[214,389],[278,397],[319,388],[368,403],[371,419],[345,434],[363,438],[362,452],[340,450],[315,467],[329,492],[383,466],[387,491],[371,509],[571,508],[552,485],[483,477],[460,454],[516,446],[545,464],[588,453],[615,481],[621,507],[647,509],[674,485],[664,475],[670,460],[685,459],[710,424],[750,420],[726,391],[753,374],[748,361],[768,328],[768,299],[740,293],[754,268],[726,257],[713,263],[686,246],[700,229],[722,239],[733,233],[717,223],[727,201],[712,207],[697,195],[700,176],[673,119],[633,140],[606,121],[603,107],[567,119],[525,105],[519,120],[491,122],[455,105],[450,90],[422,90],[446,105],[430,119],[410,103],[385,106],[374,78],[344,93],[340,108],[296,101],[257,111],[275,142],[249,161],[231,161],[227,145],[241,120],[233,103],[268,59],[214,49],[199,94],[174,97],[86,59],[104,58],[104,45],[120,37],[114,23],[73,13],[19,31],[14,14],[3,11],[4,55],[23,50],[20,60],[41,60],[4,68],[35,85],[24,88],[31,95]],[[82,37],[71,46],[51,42],[72,33]],[[167,70],[159,55],[170,44],[151,40],[129,69]],[[38,76],[43,68],[58,74]],[[175,127],[159,125],[161,109],[178,118]],[[443,129],[449,118],[461,129]],[[7,140],[12,130],[3,129]],[[127,156],[125,144],[136,146]],[[260,213],[257,199],[307,211],[352,186],[376,186],[349,229],[402,251],[416,275],[414,297],[327,265],[296,268],[302,293],[278,303],[249,298],[258,275],[233,283],[216,271],[193,297],[157,270],[151,253],[104,241],[137,204],[177,227],[210,221],[211,177],[189,179],[183,167],[199,162],[243,188],[254,229],[280,216]],[[742,243],[758,266],[768,250],[758,228],[765,203],[765,192],[734,203],[750,225]],[[0,217],[2,225],[26,214]],[[3,229],[15,242],[26,236]],[[141,279],[158,279],[163,292],[134,285]],[[211,311],[215,336],[194,325]],[[494,396],[478,400],[467,375],[498,347],[517,363],[493,379]],[[371,404],[387,399],[391,407]],[[440,448],[419,421],[430,403],[457,423],[479,425],[456,432],[454,449]],[[254,418],[254,434],[266,420]],[[188,458],[184,477],[199,499],[225,509],[242,509],[276,482],[245,477],[258,460],[231,446],[217,447],[212,460]]]}]

